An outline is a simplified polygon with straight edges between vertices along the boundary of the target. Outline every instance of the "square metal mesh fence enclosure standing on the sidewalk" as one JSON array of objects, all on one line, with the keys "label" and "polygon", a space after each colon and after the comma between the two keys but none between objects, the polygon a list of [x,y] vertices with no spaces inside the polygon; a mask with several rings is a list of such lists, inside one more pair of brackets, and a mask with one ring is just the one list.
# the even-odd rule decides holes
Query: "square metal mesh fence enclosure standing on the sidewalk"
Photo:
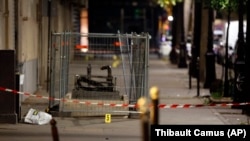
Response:
[{"label": "square metal mesh fence enclosure standing on the sidewalk", "polygon": [[59,105],[60,112],[71,116],[128,114],[128,106],[122,105],[148,96],[149,37],[146,33],[53,33],[50,107]]}]

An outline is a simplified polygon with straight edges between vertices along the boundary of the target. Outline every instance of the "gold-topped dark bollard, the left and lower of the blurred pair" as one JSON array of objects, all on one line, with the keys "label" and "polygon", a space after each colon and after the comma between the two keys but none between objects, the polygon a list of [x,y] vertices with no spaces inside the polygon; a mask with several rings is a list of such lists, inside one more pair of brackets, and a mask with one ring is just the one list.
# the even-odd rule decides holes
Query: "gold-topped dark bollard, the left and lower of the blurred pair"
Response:
[{"label": "gold-topped dark bollard, the left and lower of the blurred pair", "polygon": [[147,99],[141,97],[138,99],[137,103],[141,118],[142,141],[149,141],[149,110]]}]

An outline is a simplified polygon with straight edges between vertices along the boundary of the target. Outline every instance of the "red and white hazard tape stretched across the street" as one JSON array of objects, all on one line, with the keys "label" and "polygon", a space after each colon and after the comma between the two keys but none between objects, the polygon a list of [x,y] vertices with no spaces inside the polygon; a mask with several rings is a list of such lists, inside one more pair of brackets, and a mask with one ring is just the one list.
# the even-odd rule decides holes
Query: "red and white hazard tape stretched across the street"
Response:
[{"label": "red and white hazard tape stretched across the street", "polygon": [[[53,98],[41,95],[30,94],[26,92],[20,92],[8,88],[0,87],[0,91],[10,92],[13,94],[20,94],[25,96],[31,96],[46,100],[53,100],[53,101],[62,101],[62,102],[69,102],[69,103],[76,103],[76,104],[85,104],[85,105],[97,105],[97,106],[109,106],[109,107],[126,107],[126,108],[138,108],[137,104],[116,104],[116,103],[103,103],[103,102],[89,102],[89,101],[81,101],[77,99],[65,99],[65,98]],[[250,102],[243,102],[243,103],[220,103],[220,104],[159,104],[159,109],[169,109],[169,108],[196,108],[196,107],[205,107],[205,106],[214,106],[214,107],[227,107],[227,106],[244,106],[250,105]]]}]

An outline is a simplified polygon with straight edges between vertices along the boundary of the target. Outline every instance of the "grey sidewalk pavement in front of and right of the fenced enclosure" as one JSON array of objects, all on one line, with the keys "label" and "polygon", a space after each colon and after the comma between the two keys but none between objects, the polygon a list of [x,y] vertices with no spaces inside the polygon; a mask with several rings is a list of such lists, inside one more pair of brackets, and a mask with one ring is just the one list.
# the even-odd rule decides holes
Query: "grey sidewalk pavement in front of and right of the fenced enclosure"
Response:
[{"label": "grey sidewalk pavement in front of and right of the fenced enclosure", "polygon": [[[200,88],[197,97],[196,80],[192,78],[189,89],[187,68],[180,69],[166,60],[150,58],[149,87],[157,86],[160,90],[160,104],[204,104],[203,96],[210,95],[208,89]],[[202,85],[201,85],[202,86]],[[37,95],[48,93],[41,89]],[[44,111],[48,106],[45,99],[29,97],[22,103],[22,117],[29,108]],[[53,117],[57,122],[60,140],[88,141],[139,141],[142,137],[139,118],[112,117],[111,123],[105,123],[104,117]],[[247,116],[240,109],[226,107],[161,108],[159,124],[184,125],[239,125],[248,124]],[[1,141],[9,140],[52,140],[51,126],[18,124],[0,124]]]}]

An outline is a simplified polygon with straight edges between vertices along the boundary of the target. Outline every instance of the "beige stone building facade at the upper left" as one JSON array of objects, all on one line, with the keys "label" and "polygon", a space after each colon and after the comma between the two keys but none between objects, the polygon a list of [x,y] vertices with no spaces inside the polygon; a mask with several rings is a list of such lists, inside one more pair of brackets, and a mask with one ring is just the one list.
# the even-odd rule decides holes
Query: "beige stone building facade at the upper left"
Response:
[{"label": "beige stone building facade at the upper left", "polygon": [[72,29],[71,8],[66,0],[0,1],[0,50],[15,50],[20,91],[47,88],[50,33]]}]

